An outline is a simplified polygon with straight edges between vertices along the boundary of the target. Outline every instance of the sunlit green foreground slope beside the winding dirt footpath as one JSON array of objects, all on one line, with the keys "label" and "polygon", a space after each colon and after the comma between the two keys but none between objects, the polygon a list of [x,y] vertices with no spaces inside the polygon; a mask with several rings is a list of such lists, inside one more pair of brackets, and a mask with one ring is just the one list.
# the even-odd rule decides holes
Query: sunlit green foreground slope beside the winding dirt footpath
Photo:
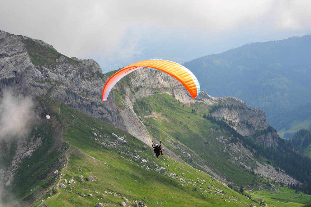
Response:
[{"label": "sunlit green foreground slope beside the winding dirt footpath", "polygon": [[[53,108],[54,114],[57,115],[59,102],[49,100],[47,104]],[[57,115],[58,119],[63,126],[68,126],[67,130],[66,127],[63,130],[63,137],[70,143],[71,147],[77,147],[69,156],[68,166],[61,170],[64,175],[60,179],[63,182],[63,179],[66,178],[69,181],[73,177],[76,183],[66,184],[66,189],[60,188],[59,195],[56,195],[52,188],[44,197],[50,196],[50,192],[54,193],[46,200],[45,205],[47,206],[94,206],[98,202],[105,204],[115,203],[118,205],[123,200],[122,196],[114,196],[110,193],[105,194],[104,191],[116,192],[125,196],[131,202],[144,200],[147,206],[161,204],[165,206],[253,205],[251,200],[232,191],[206,173],[166,156],[156,159],[153,156],[152,150],[142,150],[144,144],[141,141],[133,138],[128,133],[114,128],[110,124],[63,104],[60,105],[60,111],[60,115]],[[100,129],[100,127],[103,129]],[[94,142],[92,132],[100,134],[102,138],[96,138],[104,144]],[[109,146],[109,142],[115,140],[115,138],[111,137],[111,132],[119,136],[125,134],[128,143],[126,145],[118,145],[116,148]],[[142,158],[148,159],[148,162],[146,164],[140,161],[138,163],[133,162],[130,156],[133,150],[136,150]],[[179,181],[170,178],[168,175],[145,169],[146,166],[154,169],[155,166],[152,162],[155,162],[159,167],[165,167],[168,173],[176,173],[178,177],[187,179],[192,184],[182,182],[184,186],[181,186]],[[95,175],[96,178],[94,182],[81,181],[77,178],[79,174],[82,174],[84,177]],[[197,183],[194,186],[193,184],[197,182],[197,178],[205,180],[206,183]],[[72,185],[75,185],[75,188],[72,188]],[[209,192],[199,189],[200,187]],[[216,193],[216,188],[220,191],[225,191],[226,195]],[[68,192],[68,190],[71,192]],[[99,193],[97,194],[93,191],[98,191]],[[211,191],[214,191],[215,195]],[[86,198],[78,197],[81,193],[88,195],[90,192],[93,196],[86,196]],[[227,197],[232,199],[236,197],[237,201],[229,200]],[[41,200],[35,203],[34,206],[40,203]]]}]

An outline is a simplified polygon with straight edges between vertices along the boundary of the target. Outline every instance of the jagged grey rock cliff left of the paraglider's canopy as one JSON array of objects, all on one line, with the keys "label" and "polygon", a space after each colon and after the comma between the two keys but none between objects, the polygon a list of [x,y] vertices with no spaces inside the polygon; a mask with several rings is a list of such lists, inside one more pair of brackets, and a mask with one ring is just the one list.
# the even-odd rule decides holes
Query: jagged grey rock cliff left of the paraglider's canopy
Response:
[{"label": "jagged grey rock cliff left of the paraglider's canopy", "polygon": [[[51,90],[54,98],[67,105],[114,124],[116,109],[102,102],[100,91],[108,78],[94,60],[67,58],[57,53],[55,64],[34,64],[32,50],[53,46],[41,40],[0,31],[0,96],[5,90],[15,95],[44,96]],[[114,92],[110,93],[114,100]]]}]

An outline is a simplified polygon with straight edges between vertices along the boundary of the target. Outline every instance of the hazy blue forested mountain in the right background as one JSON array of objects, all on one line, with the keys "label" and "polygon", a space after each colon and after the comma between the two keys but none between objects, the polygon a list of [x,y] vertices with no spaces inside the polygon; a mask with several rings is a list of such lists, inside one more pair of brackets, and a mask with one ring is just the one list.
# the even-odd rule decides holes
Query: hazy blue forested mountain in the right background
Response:
[{"label": "hazy blue forested mountain in the right background", "polygon": [[311,101],[311,35],[251,43],[184,65],[214,97],[233,96],[268,120]]}]

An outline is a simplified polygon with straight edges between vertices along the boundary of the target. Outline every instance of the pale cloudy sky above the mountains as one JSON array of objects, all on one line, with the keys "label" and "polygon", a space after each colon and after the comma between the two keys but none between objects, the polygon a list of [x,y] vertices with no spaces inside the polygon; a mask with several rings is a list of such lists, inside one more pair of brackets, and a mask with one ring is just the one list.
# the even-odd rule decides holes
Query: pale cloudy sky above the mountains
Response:
[{"label": "pale cloudy sky above the mountains", "polygon": [[147,59],[182,64],[247,43],[311,34],[307,0],[0,1],[0,30],[93,59],[103,72]]}]

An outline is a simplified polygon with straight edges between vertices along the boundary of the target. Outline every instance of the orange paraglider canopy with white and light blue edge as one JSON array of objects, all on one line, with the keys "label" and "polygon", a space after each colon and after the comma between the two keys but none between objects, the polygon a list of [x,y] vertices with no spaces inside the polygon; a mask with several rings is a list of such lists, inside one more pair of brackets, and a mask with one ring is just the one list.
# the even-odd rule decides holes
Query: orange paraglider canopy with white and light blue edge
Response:
[{"label": "orange paraglider canopy with white and light blue edge", "polygon": [[109,92],[114,85],[127,74],[139,68],[149,67],[161,70],[174,78],[176,78],[188,90],[192,98],[196,98],[200,94],[200,84],[195,75],[178,63],[167,60],[145,60],[128,65],[112,75],[104,86],[102,93],[102,101],[106,101]]}]

